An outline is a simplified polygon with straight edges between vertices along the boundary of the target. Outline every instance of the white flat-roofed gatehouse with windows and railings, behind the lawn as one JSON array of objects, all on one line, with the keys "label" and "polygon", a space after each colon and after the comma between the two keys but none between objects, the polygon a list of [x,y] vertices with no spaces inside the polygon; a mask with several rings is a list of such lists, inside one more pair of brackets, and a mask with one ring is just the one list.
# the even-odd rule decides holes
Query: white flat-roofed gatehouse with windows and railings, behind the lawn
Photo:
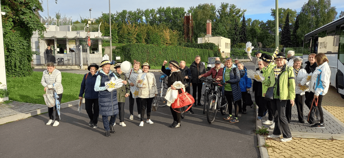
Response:
[{"label": "white flat-roofed gatehouse with windows and railings, behind the lawn", "polygon": [[[42,19],[41,19],[42,21]],[[43,22],[44,23],[44,22]],[[47,29],[44,38],[40,39],[37,32],[31,37],[32,51],[37,52],[32,57],[32,66],[38,68],[47,62],[54,62],[57,66],[78,67],[83,69],[91,63],[100,64],[102,60],[102,37],[100,25],[92,25],[92,31],[87,32],[87,24],[72,25],[44,25]],[[88,37],[90,46],[88,46]],[[51,47],[51,54],[47,53],[47,47]],[[84,67],[85,68],[85,67]]]}]

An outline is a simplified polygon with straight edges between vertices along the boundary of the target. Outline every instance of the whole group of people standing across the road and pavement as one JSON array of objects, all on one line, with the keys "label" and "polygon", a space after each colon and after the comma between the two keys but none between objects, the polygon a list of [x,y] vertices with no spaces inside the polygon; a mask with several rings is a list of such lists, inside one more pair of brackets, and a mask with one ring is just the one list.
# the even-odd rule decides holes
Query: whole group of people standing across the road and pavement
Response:
[{"label": "whole group of people standing across the road and pavement", "polygon": [[[269,54],[262,54],[256,52],[252,57],[248,53],[248,58],[255,64],[255,69],[265,77],[263,81],[254,80],[247,77],[247,69],[244,63],[237,59],[233,63],[232,58],[225,59],[225,64],[222,64],[219,58],[216,59],[213,67],[206,72],[205,65],[201,62],[201,57],[196,56],[195,61],[186,66],[185,61],[164,61],[161,71],[168,75],[168,87],[173,90],[176,88],[173,83],[180,81],[185,85],[185,91],[191,93],[195,100],[193,106],[204,106],[201,104],[202,96],[202,81],[201,77],[212,76],[218,84],[218,88],[222,90],[228,104],[228,117],[231,123],[239,122],[238,113],[247,113],[246,106],[250,106],[250,88],[255,93],[255,101],[258,108],[258,120],[262,120],[263,116],[268,114],[268,120],[263,124],[269,124],[270,128],[274,129],[273,134],[269,137],[279,137],[283,134],[281,141],[286,142],[292,139],[289,122],[291,120],[291,107],[296,104],[298,111],[298,121],[304,123],[303,120],[303,102],[311,108],[317,106],[321,114],[319,123],[315,123],[312,127],[324,127],[323,112],[321,102],[323,96],[327,93],[329,88],[330,69],[328,59],[325,54],[309,54],[306,66],[303,69],[302,59],[293,56],[293,52],[288,52],[287,57],[284,53],[279,53],[275,58]],[[289,60],[289,62],[288,62]],[[292,62],[290,62],[292,60]],[[165,64],[169,63],[169,69],[165,68]],[[289,66],[292,63],[293,66]],[[85,109],[90,119],[88,125],[97,128],[99,114],[102,117],[105,129],[105,135],[110,137],[110,133],[115,133],[114,125],[117,115],[119,115],[119,125],[126,126],[124,123],[124,105],[125,98],[129,97],[129,112],[130,120],[133,120],[133,107],[136,100],[138,118],[140,118],[139,126],[144,125],[144,121],[148,124],[153,124],[150,119],[152,101],[158,94],[157,83],[153,73],[149,72],[150,65],[148,63],[141,63],[135,61],[133,68],[129,72],[121,71],[121,63],[115,65],[115,72],[110,70],[112,63],[109,60],[101,62],[101,70],[98,71],[97,64],[90,64],[88,66],[89,73],[84,75],[81,83],[79,99],[85,98]],[[319,65],[319,66],[317,66]],[[44,86],[44,91],[55,90],[58,95],[58,100],[61,101],[63,86],[61,84],[61,72],[55,69],[52,62],[46,64],[47,70],[43,72],[41,84]],[[140,69],[140,66],[142,70]],[[306,84],[309,86],[309,92],[300,92],[295,89],[301,85],[302,79],[309,73],[313,73],[311,80]],[[105,82],[111,80],[112,77],[121,79],[123,86],[108,91]],[[273,87],[273,89],[271,89]],[[272,90],[272,98],[268,99],[266,94]],[[182,93],[181,90],[178,90]],[[251,103],[252,104],[252,103]],[[234,105],[234,113],[232,108]],[[192,105],[189,105],[192,106]],[[56,109],[56,106],[55,106]],[[57,112],[55,120],[53,116],[54,107],[48,108],[49,121],[46,123],[53,126],[59,125],[60,117]],[[147,110],[147,118],[144,119],[145,111]],[[170,107],[173,123],[169,125],[171,128],[178,128],[181,126],[180,109],[173,109]],[[187,111],[193,114],[192,107]],[[226,112],[226,111],[224,111]],[[110,116],[110,120],[108,117]]]}]

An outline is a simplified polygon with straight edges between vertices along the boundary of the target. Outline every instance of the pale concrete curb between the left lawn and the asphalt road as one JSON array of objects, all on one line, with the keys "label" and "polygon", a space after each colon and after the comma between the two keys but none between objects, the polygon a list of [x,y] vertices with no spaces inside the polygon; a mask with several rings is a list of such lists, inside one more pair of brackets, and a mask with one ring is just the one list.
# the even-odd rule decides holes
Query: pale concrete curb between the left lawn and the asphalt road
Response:
[{"label": "pale concrete curb between the left lawn and the asphalt road", "polygon": [[[85,103],[85,99],[83,99],[83,103]],[[61,109],[62,108],[67,108],[67,107],[71,107],[71,106],[75,106],[79,104],[79,100],[74,100],[74,101],[69,101],[69,102],[65,102],[63,104],[61,104]],[[45,113],[48,112],[48,108],[41,108],[41,109],[36,109],[36,110],[32,110],[32,111],[28,111],[28,112],[24,112],[24,113],[19,113],[19,114],[15,114],[15,115],[11,115],[8,117],[4,117],[4,118],[0,118],[0,124],[4,124],[4,123],[8,123],[8,122],[12,122],[12,121],[18,121],[21,119],[26,119],[28,117],[31,116],[35,116],[41,113]]]}]

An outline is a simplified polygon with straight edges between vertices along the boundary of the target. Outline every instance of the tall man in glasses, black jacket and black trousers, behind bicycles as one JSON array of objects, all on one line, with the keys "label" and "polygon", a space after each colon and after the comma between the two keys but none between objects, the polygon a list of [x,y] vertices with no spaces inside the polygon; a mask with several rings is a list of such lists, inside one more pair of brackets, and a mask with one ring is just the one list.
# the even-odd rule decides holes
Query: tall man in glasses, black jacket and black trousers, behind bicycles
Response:
[{"label": "tall man in glasses, black jacket and black trousers, behind bicycles", "polygon": [[[191,71],[191,84],[192,87],[192,96],[195,99],[194,106],[203,106],[201,104],[201,96],[202,96],[202,81],[198,78],[199,75],[204,74],[205,71],[205,65],[201,62],[201,57],[196,56],[195,61],[192,62],[190,65],[190,71]],[[198,93],[198,98],[196,100],[196,94]]]}]

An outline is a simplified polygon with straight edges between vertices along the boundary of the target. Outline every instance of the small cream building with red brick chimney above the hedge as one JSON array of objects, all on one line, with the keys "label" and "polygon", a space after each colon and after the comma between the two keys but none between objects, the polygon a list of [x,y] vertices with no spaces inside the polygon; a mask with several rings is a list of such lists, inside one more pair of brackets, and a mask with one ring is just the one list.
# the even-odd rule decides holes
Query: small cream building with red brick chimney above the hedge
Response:
[{"label": "small cream building with red brick chimney above the hedge", "polygon": [[230,57],[230,39],[222,36],[212,36],[212,22],[207,20],[207,32],[205,37],[198,37],[197,43],[214,43],[221,51],[223,58]]}]

